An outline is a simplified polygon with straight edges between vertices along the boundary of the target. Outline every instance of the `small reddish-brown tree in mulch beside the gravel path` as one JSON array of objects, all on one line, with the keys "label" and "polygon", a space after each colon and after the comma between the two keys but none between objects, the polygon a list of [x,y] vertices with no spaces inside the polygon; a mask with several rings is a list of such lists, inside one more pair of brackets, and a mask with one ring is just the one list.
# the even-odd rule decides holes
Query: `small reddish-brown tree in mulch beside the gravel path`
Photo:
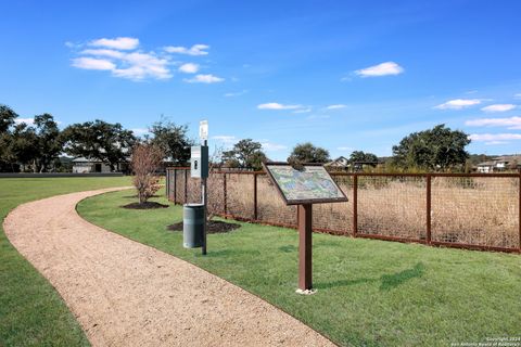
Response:
[{"label": "small reddish-brown tree in mulch beside the gravel path", "polygon": [[155,171],[160,168],[164,152],[153,144],[137,144],[132,151],[132,183],[138,191],[139,203],[144,204],[160,190],[160,178]]}]

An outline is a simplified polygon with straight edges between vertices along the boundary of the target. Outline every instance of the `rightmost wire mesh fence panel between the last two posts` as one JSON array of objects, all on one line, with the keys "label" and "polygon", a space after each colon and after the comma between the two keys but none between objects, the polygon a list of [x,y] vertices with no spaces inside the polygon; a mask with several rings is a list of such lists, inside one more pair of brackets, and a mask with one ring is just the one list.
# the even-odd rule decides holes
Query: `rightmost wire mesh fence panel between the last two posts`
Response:
[{"label": "rightmost wire mesh fence panel between the last two posts", "polygon": [[432,240],[519,248],[519,178],[435,177]]}]

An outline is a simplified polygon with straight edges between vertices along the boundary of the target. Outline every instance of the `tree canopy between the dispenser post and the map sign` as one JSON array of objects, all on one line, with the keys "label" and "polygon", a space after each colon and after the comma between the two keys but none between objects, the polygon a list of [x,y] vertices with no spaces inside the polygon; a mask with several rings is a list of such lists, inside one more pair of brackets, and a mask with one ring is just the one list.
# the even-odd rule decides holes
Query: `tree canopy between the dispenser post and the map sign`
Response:
[{"label": "tree canopy between the dispenser post and the map sign", "polygon": [[253,168],[260,170],[267,160],[262,151],[263,145],[252,139],[244,139],[233,145],[230,151],[223,152],[223,162],[230,167]]}]

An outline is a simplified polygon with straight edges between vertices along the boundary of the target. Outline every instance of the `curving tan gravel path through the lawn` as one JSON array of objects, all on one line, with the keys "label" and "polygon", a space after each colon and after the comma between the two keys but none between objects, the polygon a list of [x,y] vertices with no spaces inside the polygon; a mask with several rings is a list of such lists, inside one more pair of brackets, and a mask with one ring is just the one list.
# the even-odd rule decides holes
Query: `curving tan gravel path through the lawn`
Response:
[{"label": "curving tan gravel path through the lawn", "polygon": [[333,345],[238,286],[77,215],[80,200],[114,190],[24,204],[3,226],[93,346]]}]

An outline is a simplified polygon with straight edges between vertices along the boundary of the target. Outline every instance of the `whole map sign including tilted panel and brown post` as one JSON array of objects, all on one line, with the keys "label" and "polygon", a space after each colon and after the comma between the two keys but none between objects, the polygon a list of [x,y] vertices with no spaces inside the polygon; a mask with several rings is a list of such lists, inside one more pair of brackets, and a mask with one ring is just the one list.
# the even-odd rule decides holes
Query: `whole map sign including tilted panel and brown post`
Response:
[{"label": "whole map sign including tilted panel and brown post", "polygon": [[313,294],[313,204],[346,202],[347,197],[320,164],[294,168],[288,163],[263,164],[287,205],[298,205],[298,290]]}]

